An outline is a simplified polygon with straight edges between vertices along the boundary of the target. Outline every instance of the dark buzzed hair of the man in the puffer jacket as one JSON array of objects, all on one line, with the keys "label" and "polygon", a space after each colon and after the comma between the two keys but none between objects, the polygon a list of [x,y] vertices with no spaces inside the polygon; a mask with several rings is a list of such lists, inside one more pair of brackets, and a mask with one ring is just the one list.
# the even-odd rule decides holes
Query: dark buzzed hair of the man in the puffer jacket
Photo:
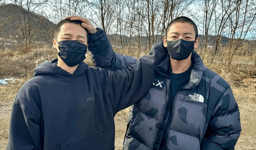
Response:
[{"label": "dark buzzed hair of the man in the puffer jacket", "polygon": [[172,20],[172,21],[168,24],[168,26],[167,26],[167,28],[166,28],[166,30],[165,30],[165,37],[166,37],[166,38],[167,38],[167,33],[168,33],[168,31],[170,30],[170,26],[171,26],[173,23],[176,23],[176,22],[189,23],[189,24],[191,24],[191,25],[194,27],[194,31],[195,31],[195,33],[196,33],[196,38],[195,38],[195,40],[197,39],[197,37],[198,37],[198,29],[197,29],[196,23],[194,23],[194,21],[192,21],[191,19],[189,19],[189,18],[187,18],[187,17],[184,17],[184,16],[178,17],[178,18]]}]

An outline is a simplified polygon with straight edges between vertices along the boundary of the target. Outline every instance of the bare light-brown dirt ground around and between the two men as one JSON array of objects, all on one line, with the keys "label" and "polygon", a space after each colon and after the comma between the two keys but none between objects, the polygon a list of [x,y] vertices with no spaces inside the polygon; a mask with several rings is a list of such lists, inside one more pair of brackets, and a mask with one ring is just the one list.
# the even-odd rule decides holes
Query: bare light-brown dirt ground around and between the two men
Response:
[{"label": "bare light-brown dirt ground around and between the two men", "polygon": [[[12,99],[6,99],[6,85],[0,85],[0,150],[6,149],[8,140],[8,130],[10,121],[10,111],[12,101],[16,94],[13,94]],[[10,85],[15,86],[15,85]],[[237,88],[232,87],[236,101],[240,109],[240,118],[242,132],[236,144],[236,150],[256,150],[256,89],[255,87]],[[8,94],[8,93],[7,93]],[[9,96],[8,96],[9,97]],[[126,108],[117,113],[115,117],[116,123],[116,140],[115,150],[122,150],[122,141],[126,131],[126,120],[128,118],[129,108]]]}]

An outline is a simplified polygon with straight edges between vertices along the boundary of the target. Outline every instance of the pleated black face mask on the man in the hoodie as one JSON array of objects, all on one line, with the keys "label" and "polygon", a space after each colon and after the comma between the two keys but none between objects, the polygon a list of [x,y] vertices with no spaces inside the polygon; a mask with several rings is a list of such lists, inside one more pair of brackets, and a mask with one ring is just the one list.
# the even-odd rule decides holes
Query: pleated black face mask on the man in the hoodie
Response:
[{"label": "pleated black face mask on the man in the hoodie", "polygon": [[66,65],[73,67],[86,59],[87,45],[76,40],[60,41],[58,44],[58,55]]}]

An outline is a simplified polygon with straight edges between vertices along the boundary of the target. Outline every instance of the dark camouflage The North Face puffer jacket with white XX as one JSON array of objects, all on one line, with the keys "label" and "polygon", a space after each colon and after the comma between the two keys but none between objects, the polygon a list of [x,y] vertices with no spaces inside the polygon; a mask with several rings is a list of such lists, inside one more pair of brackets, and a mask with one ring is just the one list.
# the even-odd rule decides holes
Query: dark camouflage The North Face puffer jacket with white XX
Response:
[{"label": "dark camouflage The North Face puffer jacket with white XX", "polygon": [[[97,41],[108,40],[101,29],[90,40],[93,41],[89,44],[92,60],[98,67],[118,70],[138,62],[114,53],[112,47],[98,51]],[[171,100],[170,56],[156,67],[160,75],[130,109],[124,150],[158,150],[165,128],[168,128],[166,150],[234,150],[241,125],[232,90],[222,77],[204,66],[195,51],[192,59],[190,81],[178,90],[172,112],[167,107]],[[170,127],[166,127],[169,114],[172,120]]]}]

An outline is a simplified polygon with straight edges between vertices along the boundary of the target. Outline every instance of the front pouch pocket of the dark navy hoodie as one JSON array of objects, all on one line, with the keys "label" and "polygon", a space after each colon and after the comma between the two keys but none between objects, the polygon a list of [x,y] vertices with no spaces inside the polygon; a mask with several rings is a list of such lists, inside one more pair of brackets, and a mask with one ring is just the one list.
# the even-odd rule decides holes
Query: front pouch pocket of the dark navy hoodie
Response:
[{"label": "front pouch pocket of the dark navy hoodie", "polygon": [[114,146],[107,140],[105,135],[100,132],[94,134],[86,140],[68,144],[60,147],[61,150],[114,150]]}]

